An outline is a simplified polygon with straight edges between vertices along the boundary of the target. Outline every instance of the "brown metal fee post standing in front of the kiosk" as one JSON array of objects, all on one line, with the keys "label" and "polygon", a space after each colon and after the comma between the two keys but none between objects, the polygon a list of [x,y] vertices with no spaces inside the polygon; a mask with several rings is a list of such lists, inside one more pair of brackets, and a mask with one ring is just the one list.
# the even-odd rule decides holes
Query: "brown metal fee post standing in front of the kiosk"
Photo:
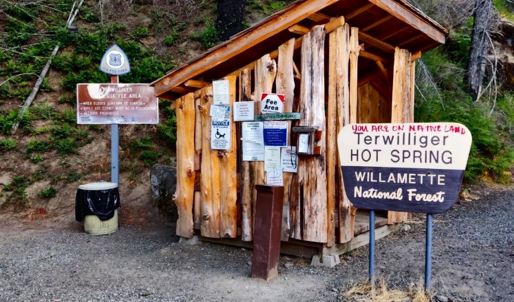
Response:
[{"label": "brown metal fee post standing in front of the kiosk", "polygon": [[252,278],[269,281],[279,274],[284,187],[255,185]]}]

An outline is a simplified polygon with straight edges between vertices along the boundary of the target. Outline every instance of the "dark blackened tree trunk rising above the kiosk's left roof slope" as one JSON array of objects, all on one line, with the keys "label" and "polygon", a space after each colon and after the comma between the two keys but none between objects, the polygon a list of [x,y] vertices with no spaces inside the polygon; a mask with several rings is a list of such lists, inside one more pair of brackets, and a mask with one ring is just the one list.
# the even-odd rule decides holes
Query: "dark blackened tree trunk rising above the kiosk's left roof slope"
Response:
[{"label": "dark blackened tree trunk rising above the kiosk's left roof slope", "polygon": [[218,0],[216,30],[220,41],[243,30],[246,0]]}]

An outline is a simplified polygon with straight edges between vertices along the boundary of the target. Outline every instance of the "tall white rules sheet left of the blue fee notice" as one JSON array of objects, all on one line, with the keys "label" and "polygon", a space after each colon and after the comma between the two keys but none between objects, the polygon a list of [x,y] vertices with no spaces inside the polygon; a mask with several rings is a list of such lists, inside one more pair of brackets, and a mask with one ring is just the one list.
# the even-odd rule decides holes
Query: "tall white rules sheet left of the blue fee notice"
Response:
[{"label": "tall white rules sheet left of the blue fee notice", "polygon": [[244,161],[264,161],[263,128],[263,122],[242,123],[241,140]]}]

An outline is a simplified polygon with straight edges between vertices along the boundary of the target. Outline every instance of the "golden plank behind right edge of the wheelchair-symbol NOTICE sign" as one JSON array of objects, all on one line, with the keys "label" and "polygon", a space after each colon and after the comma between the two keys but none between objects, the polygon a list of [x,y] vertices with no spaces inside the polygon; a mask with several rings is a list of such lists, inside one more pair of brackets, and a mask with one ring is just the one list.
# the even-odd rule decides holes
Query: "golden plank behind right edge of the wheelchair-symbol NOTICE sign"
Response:
[{"label": "golden plank behind right edge of the wheelchair-symbol NOTICE sign", "polygon": [[[230,107],[234,108],[235,82],[237,77],[231,75],[223,78],[229,84]],[[230,112],[231,140],[230,150],[219,150],[219,179],[223,180],[219,188],[219,232],[222,238],[235,238],[237,236],[237,141],[235,133],[234,112]]]}]

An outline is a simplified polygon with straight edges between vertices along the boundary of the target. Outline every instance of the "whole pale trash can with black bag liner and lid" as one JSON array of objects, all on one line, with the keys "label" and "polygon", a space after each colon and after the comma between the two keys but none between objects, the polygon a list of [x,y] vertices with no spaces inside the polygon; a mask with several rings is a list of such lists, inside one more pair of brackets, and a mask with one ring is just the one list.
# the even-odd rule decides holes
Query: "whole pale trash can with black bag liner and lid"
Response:
[{"label": "whole pale trash can with black bag liner and lid", "polygon": [[82,184],[75,197],[75,220],[84,222],[87,234],[111,234],[118,230],[118,207],[118,184],[102,181]]}]

